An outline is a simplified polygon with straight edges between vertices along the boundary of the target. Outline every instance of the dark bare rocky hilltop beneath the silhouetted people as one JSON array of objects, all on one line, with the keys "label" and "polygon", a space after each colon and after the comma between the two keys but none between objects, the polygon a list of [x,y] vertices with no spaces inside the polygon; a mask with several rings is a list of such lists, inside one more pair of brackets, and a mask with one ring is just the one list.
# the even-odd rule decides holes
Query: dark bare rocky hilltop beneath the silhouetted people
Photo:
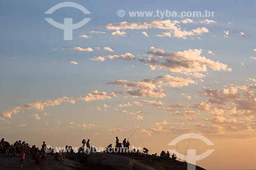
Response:
[{"label": "dark bare rocky hilltop beneath the silhouetted people", "polygon": [[[19,157],[6,157],[0,154],[0,169],[18,169]],[[156,169],[187,169],[187,164],[172,159],[151,161],[151,156],[122,155],[107,153],[67,154],[65,162],[56,161],[48,156],[45,167],[35,166],[31,156],[25,159],[24,169],[95,169],[95,170],[156,170]],[[197,170],[203,170],[197,166]]]}]

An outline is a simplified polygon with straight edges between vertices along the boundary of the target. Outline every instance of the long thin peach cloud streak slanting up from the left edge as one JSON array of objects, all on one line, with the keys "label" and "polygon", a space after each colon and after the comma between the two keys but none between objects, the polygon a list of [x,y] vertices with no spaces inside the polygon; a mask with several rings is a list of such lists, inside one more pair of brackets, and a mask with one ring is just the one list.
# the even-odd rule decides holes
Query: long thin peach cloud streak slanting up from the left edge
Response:
[{"label": "long thin peach cloud streak slanting up from the left edge", "polygon": [[62,98],[58,98],[55,100],[47,100],[47,101],[38,101],[34,103],[28,103],[22,106],[17,106],[12,108],[10,111],[4,111],[2,113],[3,116],[12,118],[12,114],[16,114],[20,112],[20,110],[23,109],[36,109],[40,111],[45,111],[45,107],[50,107],[50,106],[57,106],[60,105],[61,103],[72,103],[75,104],[75,100],[73,98],[68,98],[67,96],[64,96]]}]

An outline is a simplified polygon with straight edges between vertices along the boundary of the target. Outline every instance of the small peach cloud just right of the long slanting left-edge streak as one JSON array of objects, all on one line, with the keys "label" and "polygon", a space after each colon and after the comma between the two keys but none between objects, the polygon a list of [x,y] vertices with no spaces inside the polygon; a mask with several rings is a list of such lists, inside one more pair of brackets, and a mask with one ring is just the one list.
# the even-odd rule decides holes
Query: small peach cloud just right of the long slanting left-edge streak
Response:
[{"label": "small peach cloud just right of the long slanting left-edge streak", "polygon": [[82,98],[80,97],[80,100],[85,101],[85,102],[92,102],[92,101],[97,101],[97,100],[106,100],[106,99],[111,99],[111,98],[116,98],[118,92],[112,92],[112,93],[107,93],[107,92],[99,92],[97,90],[88,93],[86,97]]}]

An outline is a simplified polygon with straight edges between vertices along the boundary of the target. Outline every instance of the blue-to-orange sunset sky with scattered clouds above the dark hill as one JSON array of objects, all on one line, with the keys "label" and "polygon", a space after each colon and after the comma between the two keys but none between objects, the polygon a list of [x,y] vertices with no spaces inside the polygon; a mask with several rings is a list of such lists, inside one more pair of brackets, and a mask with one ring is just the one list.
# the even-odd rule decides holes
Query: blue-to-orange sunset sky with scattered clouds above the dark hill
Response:
[{"label": "blue-to-orange sunset sky with scattered clouds above the dark hill", "polygon": [[[214,145],[189,149],[215,150],[197,165],[256,168],[255,1],[71,1],[91,14],[45,14],[63,2],[0,2],[0,137],[106,147],[135,131],[131,145],[160,155],[196,133]],[[156,16],[166,10],[214,15]],[[45,18],[91,19],[64,40]]]}]

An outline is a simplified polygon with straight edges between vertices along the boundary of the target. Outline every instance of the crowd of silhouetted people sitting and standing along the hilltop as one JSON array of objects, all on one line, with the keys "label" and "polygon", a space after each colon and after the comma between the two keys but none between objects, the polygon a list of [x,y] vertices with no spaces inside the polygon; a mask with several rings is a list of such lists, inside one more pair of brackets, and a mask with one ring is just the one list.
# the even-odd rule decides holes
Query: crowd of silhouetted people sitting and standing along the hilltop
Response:
[{"label": "crowd of silhouetted people sitting and standing along the hilltop", "polygon": [[[140,150],[132,149],[130,151],[130,142],[126,141],[126,138],[123,139],[122,143],[119,142],[118,136],[116,136],[116,145],[113,148],[110,143],[108,147],[106,147],[105,153],[123,153],[130,155],[140,155],[146,156],[148,155],[149,150],[147,148],[143,148],[142,153]],[[8,141],[5,141],[4,138],[0,141],[0,153],[5,153],[6,157],[20,157],[20,169],[23,168],[25,162],[25,156],[31,156],[33,160],[35,160],[35,165],[46,166],[47,155],[53,155],[54,160],[62,161],[66,159],[67,153],[74,153],[74,150],[71,146],[66,145],[65,150],[59,150],[59,152],[54,153],[54,149],[47,148],[47,144],[45,141],[42,142],[41,149],[36,148],[35,145],[30,145],[25,141],[15,141],[13,144],[10,144]],[[95,147],[91,147],[90,139],[82,139],[82,147],[79,148],[78,153],[90,154],[93,152],[97,152]],[[167,151],[162,151],[160,154],[160,158],[170,158],[176,160],[176,154],[173,153],[172,157],[170,157],[170,153]],[[152,154],[152,160],[160,160],[157,153]]]}]

